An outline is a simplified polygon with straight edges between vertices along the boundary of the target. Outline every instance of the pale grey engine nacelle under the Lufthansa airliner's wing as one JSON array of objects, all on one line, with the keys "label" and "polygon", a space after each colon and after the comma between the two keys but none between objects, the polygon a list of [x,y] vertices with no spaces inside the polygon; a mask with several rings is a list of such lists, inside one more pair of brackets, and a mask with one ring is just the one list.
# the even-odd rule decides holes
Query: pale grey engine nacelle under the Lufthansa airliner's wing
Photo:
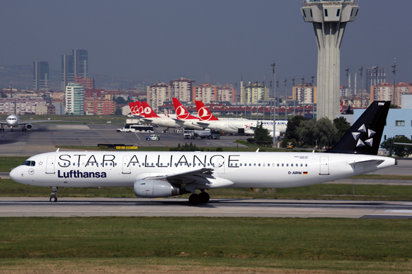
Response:
[{"label": "pale grey engine nacelle under the Lufthansa airliner's wing", "polygon": [[161,198],[188,193],[180,184],[155,179],[138,179],[135,181],[135,195],[143,198]]}]

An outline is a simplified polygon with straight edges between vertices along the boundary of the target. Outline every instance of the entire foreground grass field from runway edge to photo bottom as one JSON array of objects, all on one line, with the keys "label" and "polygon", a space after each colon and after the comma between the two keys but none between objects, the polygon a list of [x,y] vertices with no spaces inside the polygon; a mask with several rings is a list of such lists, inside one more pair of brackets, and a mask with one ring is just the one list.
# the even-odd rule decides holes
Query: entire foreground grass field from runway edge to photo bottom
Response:
[{"label": "entire foreground grass field from runway edge to photo bottom", "polygon": [[167,273],[162,266],[177,273],[187,265],[221,270],[212,273],[410,273],[411,225],[373,219],[2,218],[0,272],[27,265],[132,270],[155,264],[158,273]]}]

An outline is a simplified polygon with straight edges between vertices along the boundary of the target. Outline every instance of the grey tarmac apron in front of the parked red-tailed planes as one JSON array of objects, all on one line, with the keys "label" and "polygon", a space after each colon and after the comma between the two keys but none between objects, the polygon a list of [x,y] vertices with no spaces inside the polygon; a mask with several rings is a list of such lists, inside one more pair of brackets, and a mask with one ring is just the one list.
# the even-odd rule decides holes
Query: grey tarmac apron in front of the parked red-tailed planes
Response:
[{"label": "grey tarmac apron in front of the parked red-tailed planes", "polygon": [[[87,125],[70,125],[70,124],[34,124],[30,132],[21,132],[21,129],[15,129],[10,132],[0,132],[0,155],[1,156],[31,156],[38,153],[56,150],[55,146],[59,145],[83,145],[97,146],[100,143],[124,144],[147,146],[168,146],[176,147],[186,142],[197,145],[198,147],[236,147],[233,141],[238,138],[246,140],[247,137],[239,136],[222,136],[220,140],[194,139],[185,140],[183,134],[163,133],[162,128],[157,127],[155,134],[160,134],[161,140],[148,141],[146,137],[150,133],[135,134],[132,132],[116,132],[120,125],[111,124],[87,124]],[[242,145],[239,145],[241,147]]]}]

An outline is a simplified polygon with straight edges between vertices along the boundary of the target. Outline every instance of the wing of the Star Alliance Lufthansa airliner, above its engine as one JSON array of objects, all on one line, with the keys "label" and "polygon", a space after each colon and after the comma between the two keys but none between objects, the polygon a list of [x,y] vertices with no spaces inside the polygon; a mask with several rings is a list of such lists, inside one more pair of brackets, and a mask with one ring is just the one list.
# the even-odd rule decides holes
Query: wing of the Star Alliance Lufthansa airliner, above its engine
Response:
[{"label": "wing of the Star Alliance Lufthansa airliner, above its engine", "polygon": [[144,179],[167,179],[169,182],[174,184],[190,184],[198,183],[204,185],[211,185],[211,182],[207,179],[216,179],[212,173],[214,169],[196,169],[195,171],[187,171],[183,173],[174,173],[170,175],[159,175],[153,177],[146,177]]}]

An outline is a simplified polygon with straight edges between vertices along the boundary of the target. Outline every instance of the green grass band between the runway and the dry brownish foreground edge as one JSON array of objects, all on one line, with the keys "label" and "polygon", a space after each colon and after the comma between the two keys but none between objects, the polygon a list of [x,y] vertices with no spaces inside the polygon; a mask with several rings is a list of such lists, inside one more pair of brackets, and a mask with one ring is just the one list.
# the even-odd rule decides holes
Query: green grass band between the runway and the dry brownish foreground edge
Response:
[{"label": "green grass band between the runway and the dry brownish foreground edge", "polygon": [[0,258],[410,262],[411,220],[1,218]]}]

